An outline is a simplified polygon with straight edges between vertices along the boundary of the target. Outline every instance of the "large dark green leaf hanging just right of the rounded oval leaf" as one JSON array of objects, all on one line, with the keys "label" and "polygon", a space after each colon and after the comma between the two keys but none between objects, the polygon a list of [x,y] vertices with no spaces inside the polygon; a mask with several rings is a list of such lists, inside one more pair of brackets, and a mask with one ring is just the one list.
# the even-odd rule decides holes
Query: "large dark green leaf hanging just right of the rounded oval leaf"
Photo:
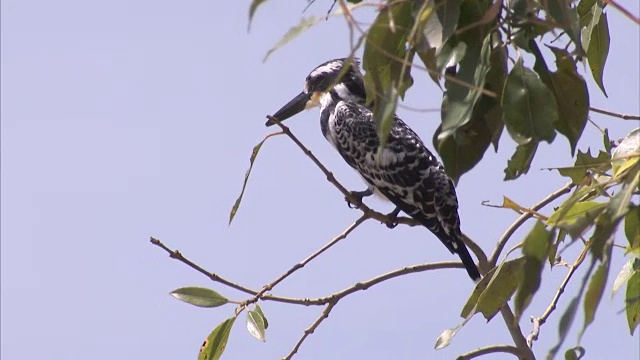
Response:
[{"label": "large dark green leaf hanging just right of the rounded oval leaf", "polygon": [[[556,130],[569,140],[571,155],[576,146],[589,115],[589,90],[587,83],[578,74],[576,64],[564,49],[549,47],[556,56],[558,70],[549,74],[551,83],[546,83],[553,91],[558,103],[558,121],[554,123]],[[542,78],[542,81],[545,81]]]}]

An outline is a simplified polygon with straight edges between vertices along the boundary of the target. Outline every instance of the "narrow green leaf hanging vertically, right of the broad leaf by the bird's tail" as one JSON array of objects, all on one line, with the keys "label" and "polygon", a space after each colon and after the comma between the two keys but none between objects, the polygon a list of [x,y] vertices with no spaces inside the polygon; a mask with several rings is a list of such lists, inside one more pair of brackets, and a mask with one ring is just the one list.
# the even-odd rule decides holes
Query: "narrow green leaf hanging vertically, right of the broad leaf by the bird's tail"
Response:
[{"label": "narrow green leaf hanging vertically, right of the broad leaf by the bird's tail", "polygon": [[529,306],[533,295],[540,287],[540,275],[553,235],[553,230],[547,231],[544,223],[537,221],[524,239],[522,245],[523,271],[514,300],[516,319],[520,319],[522,312]]}]

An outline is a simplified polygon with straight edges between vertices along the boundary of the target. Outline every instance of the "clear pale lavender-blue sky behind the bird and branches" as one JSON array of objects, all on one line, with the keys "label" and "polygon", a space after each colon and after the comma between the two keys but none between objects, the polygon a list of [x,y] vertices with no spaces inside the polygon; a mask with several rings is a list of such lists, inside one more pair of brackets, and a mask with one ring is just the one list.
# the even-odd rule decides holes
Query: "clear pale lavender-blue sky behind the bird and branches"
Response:
[{"label": "clear pale lavender-blue sky behind the bird and branches", "polygon": [[[317,1],[304,16],[324,16]],[[620,0],[634,14],[638,2]],[[270,130],[265,115],[297,94],[321,62],[348,54],[347,28],[333,19],[274,53],[266,51],[299,18],[306,2],[272,0],[247,33],[241,1],[2,2],[2,249],[3,359],[189,359],[233,306],[196,308],[168,293],[209,282],[149,243],[155,236],[209,271],[258,289],[325,244],[360,216],[285,137],[258,156],[231,227],[252,147]],[[369,12],[371,19],[372,12]],[[591,104],[638,114],[639,32],[607,9],[612,36],[604,98],[591,78]],[[365,16],[366,18],[366,16]],[[529,63],[529,66],[532,64]],[[584,68],[581,69],[584,71]],[[441,91],[415,76],[399,109],[431,146]],[[290,120],[295,134],[349,189],[364,188],[320,133],[318,111]],[[592,114],[611,137],[634,122]],[[589,125],[579,144],[601,148]],[[573,163],[560,135],[543,144],[530,173],[503,182],[514,149],[503,134],[500,152],[487,152],[458,186],[463,230],[487,251],[515,213],[487,208],[507,195],[530,206],[565,179],[544,167]],[[386,212],[389,204],[368,202]],[[545,211],[546,213],[548,213]],[[516,233],[526,235],[533,222]],[[619,243],[626,243],[620,236]],[[615,249],[612,273],[622,266]],[[573,259],[569,253],[567,260]],[[278,286],[274,293],[317,297],[403,266],[457,260],[427,230],[388,230],[369,221],[338,246]],[[584,269],[583,269],[584,270]],[[545,272],[525,317],[540,315],[564,277]],[[535,344],[540,356],[557,338],[557,322],[578,288],[571,282]],[[638,359],[638,332],[629,336],[623,297],[607,284],[583,343],[588,359]],[[460,322],[473,284],[463,270],[405,276],[339,303],[298,359],[451,359],[476,347],[511,343],[502,319],[476,316],[444,350],[436,337]],[[236,323],[226,359],[286,355],[321,308],[262,303],[267,342]],[[565,349],[576,343],[582,310]],[[528,321],[522,322],[526,334]],[[615,350],[612,350],[615,349]],[[492,359],[510,358],[492,356]]]}]

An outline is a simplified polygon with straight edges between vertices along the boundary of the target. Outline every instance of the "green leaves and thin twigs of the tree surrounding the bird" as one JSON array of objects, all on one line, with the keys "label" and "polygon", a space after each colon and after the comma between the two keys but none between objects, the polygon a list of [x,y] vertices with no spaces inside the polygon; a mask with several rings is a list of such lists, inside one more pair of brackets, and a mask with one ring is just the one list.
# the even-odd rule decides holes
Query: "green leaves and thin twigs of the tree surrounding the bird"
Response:
[{"label": "green leaves and thin twigs of the tree surrounding the bird", "polygon": [[[252,1],[249,22],[264,2]],[[498,151],[505,128],[508,137],[517,144],[515,153],[506,164],[505,180],[515,180],[526,174],[540,144],[555,141],[558,133],[567,139],[573,156],[590,112],[586,80],[577,70],[585,59],[593,81],[606,95],[603,74],[609,51],[609,30],[607,14],[603,11],[605,4],[600,1],[390,0],[378,5],[378,15],[368,29],[362,29],[353,15],[365,2],[338,3],[340,9],[334,15],[344,16],[352,34],[356,33],[355,30],[360,33],[357,41],[351,39],[354,44],[351,56],[358,47],[363,46],[367,100],[373,109],[383,144],[397,102],[411,88],[416,76],[424,74],[444,88],[441,124],[433,136],[433,144],[448,174],[455,181],[478,164],[491,145]],[[317,18],[302,19],[268,51],[265,59],[319,21]],[[550,45],[557,38],[560,38],[559,42],[564,47]],[[551,62],[549,59],[556,64],[554,70],[548,66]],[[426,71],[417,73],[416,69]],[[229,223],[238,211],[258,152],[267,138],[276,134],[289,136],[325,172],[329,181],[349,197],[344,187],[290,130],[282,124],[278,125],[282,132],[268,135],[254,147],[250,167],[240,196],[231,210]],[[611,258],[616,256],[614,238],[621,226],[624,226],[628,239],[625,252],[629,259],[613,281],[612,296],[626,286],[624,309],[629,331],[634,333],[640,323],[640,207],[633,203],[632,195],[640,190],[640,130],[632,131],[618,144],[609,139],[605,130],[601,147],[596,155],[592,155],[589,148],[584,152],[578,150],[572,166],[554,169],[558,176],[568,178],[569,183],[548,199],[528,208],[505,197],[504,203],[497,206],[521,214],[521,218],[512,225],[514,229],[532,217],[537,219],[536,223],[522,242],[500,261],[501,251],[513,234],[511,230],[505,232],[497,244],[497,250],[490,257],[479,247],[472,249],[479,259],[484,259],[480,265],[485,276],[476,284],[461,311],[464,318],[462,324],[445,330],[438,337],[436,348],[450,344],[457,331],[474,314],[481,313],[490,321],[501,313],[506,320],[513,316],[513,306],[516,326],[507,326],[515,346],[496,347],[496,351],[511,352],[521,358],[534,358],[531,347],[538,338],[541,326],[556,309],[559,297],[575,271],[586,261],[589,265],[580,289],[560,317],[557,345],[547,354],[547,357],[553,358],[561,350],[577,312],[582,309],[584,323],[579,330],[578,342],[574,347],[564,349],[565,358],[582,358],[588,346],[583,346],[580,339],[593,323],[604,295],[610,278]],[[555,209],[547,214],[539,212],[549,202],[568,193],[570,195]],[[366,206],[360,210],[363,216],[358,221],[305,261],[320,255],[365,220],[386,219]],[[412,224],[410,219],[401,220],[402,223]],[[152,239],[152,242],[170,252],[173,258],[204,272],[159,240]],[[572,264],[561,258],[564,250],[570,246],[581,247],[580,255]],[[521,249],[522,256],[508,258],[517,249]],[[555,286],[542,283],[546,264],[551,267],[566,265],[569,270],[564,281],[558,285],[558,292],[550,300],[549,307],[543,314],[533,318],[534,328],[523,344],[524,335],[517,322],[540,287]],[[246,327],[249,333],[265,341],[268,322],[258,305],[259,301],[325,306],[321,317],[305,331],[287,356],[291,358],[342,297],[395,276],[450,265],[425,264],[420,269],[405,268],[318,299],[279,298],[266,294],[302,266],[294,266],[260,291],[204,272],[213,281],[250,294],[251,297],[243,302],[229,300],[214,290],[204,288],[181,288],[171,294],[200,307],[217,307],[228,303],[237,306],[234,316],[218,325],[209,335],[202,346],[201,359],[220,357],[234,321],[242,311],[247,313]],[[253,309],[250,309],[251,306]]]}]

